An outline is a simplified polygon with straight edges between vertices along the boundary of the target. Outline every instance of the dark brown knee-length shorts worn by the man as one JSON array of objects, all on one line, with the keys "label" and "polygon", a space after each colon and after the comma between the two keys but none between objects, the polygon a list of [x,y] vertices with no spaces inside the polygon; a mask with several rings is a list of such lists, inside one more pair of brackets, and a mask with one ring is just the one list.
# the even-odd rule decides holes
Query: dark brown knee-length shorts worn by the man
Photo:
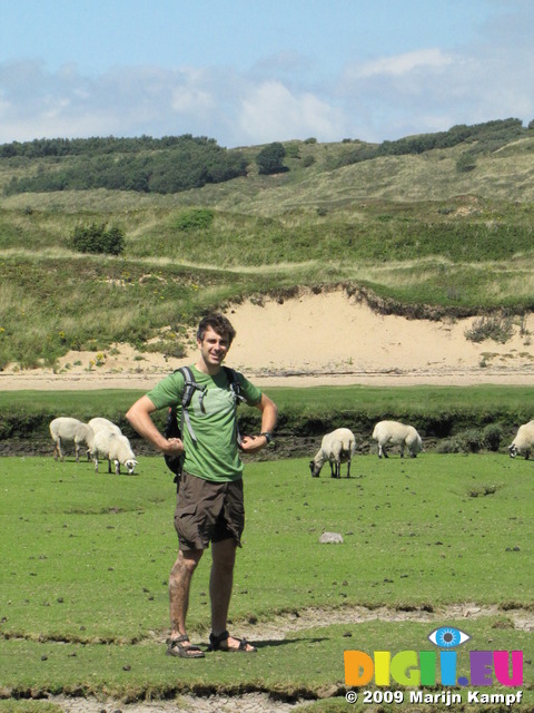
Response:
[{"label": "dark brown knee-length shorts worn by the man", "polygon": [[207,549],[210,541],[230,538],[240,547],[244,527],[241,479],[212,482],[181,473],[175,511],[180,549]]}]

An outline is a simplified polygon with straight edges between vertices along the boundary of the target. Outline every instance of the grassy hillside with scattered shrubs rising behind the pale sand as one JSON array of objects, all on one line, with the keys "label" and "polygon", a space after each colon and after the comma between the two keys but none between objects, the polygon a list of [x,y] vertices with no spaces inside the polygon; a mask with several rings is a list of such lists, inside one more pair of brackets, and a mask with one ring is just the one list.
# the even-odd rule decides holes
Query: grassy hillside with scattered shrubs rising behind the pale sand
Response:
[{"label": "grassy hillside with scattered shrubs rising behind the pale sand", "polygon": [[[261,147],[245,147],[246,177],[176,194],[0,195],[0,368],[113,341],[178,354],[202,310],[299,285],[343,283],[415,315],[531,310],[534,131],[513,128],[446,147],[427,135],[404,155],[382,155],[402,143],[290,141],[288,170],[271,176],[258,174]],[[73,160],[0,158],[0,192]],[[71,251],[91,222],[125,232],[121,256]]]}]

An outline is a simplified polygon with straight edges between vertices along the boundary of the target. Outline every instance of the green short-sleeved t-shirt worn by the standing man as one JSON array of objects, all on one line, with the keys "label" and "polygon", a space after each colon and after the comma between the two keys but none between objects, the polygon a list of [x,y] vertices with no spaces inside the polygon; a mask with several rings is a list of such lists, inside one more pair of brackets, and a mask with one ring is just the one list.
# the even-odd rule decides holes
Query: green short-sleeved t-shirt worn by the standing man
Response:
[{"label": "green short-sleeved t-shirt worn by the standing man", "polygon": [[[210,377],[195,367],[190,368],[195,381],[205,388],[195,390],[188,407],[191,428],[196,442],[184,421],[181,439],[185,447],[184,470],[198,478],[225,482],[243,477],[243,462],[237,445],[237,416],[235,394],[230,389],[225,369]],[[261,400],[261,391],[251,384],[241,373],[237,373],[240,395],[249,406]],[[185,379],[176,371],[162,379],[147,397],[156,409],[177,407],[178,423],[181,420],[181,397]]]}]

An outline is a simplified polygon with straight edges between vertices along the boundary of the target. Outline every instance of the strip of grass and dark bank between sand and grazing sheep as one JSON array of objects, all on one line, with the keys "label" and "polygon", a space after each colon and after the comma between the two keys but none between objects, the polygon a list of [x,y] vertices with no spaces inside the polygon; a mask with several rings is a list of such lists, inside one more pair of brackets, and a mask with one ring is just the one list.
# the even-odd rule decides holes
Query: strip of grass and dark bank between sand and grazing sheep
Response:
[{"label": "strip of grass and dark bank between sand and grazing sheep", "polygon": [[[376,448],[370,434],[377,421],[389,419],[412,423],[424,440],[425,450],[441,453],[483,451],[498,452],[512,442],[517,427],[530,419],[534,409],[532,389],[413,388],[386,389],[337,387],[299,390],[271,389],[279,406],[276,438],[257,457],[277,460],[309,456],[324,433],[348,427],[356,436],[357,452]],[[138,397],[137,392],[67,392],[41,393],[34,399],[4,392],[0,399],[0,453],[48,455],[52,442],[49,423],[58,416],[71,416],[88,421],[96,414],[119,424],[130,439],[137,455],[157,451],[131,429],[125,413]],[[241,407],[241,433],[260,429],[259,413]],[[162,430],[165,413],[155,414]]]}]

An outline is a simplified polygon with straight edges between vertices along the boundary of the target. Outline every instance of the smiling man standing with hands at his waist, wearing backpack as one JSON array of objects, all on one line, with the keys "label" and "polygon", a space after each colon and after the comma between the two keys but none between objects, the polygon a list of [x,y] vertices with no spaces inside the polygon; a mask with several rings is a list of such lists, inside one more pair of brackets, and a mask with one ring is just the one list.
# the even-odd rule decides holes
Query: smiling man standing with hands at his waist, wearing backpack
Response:
[{"label": "smiling man standing with hands at his waist, wearing backpack", "polygon": [[236,393],[222,362],[236,335],[221,314],[201,320],[197,331],[198,361],[191,367],[196,389],[188,407],[188,423],[181,438],[165,438],[150,414],[170,406],[181,408],[185,379],[174,372],[141,397],[126,418],[132,428],[164,455],[181,456],[175,527],[179,551],[169,578],[170,639],[167,654],[184,658],[204,657],[192,646],[186,629],[192,574],[204,550],[211,544],[210,651],[255,652],[246,639],[227,631],[234,582],[236,548],[245,526],[243,462],[239,449],[256,453],[270,442],[277,420],[275,403],[240,373],[236,373],[240,397],[261,411],[261,433],[240,442],[237,429]]}]

